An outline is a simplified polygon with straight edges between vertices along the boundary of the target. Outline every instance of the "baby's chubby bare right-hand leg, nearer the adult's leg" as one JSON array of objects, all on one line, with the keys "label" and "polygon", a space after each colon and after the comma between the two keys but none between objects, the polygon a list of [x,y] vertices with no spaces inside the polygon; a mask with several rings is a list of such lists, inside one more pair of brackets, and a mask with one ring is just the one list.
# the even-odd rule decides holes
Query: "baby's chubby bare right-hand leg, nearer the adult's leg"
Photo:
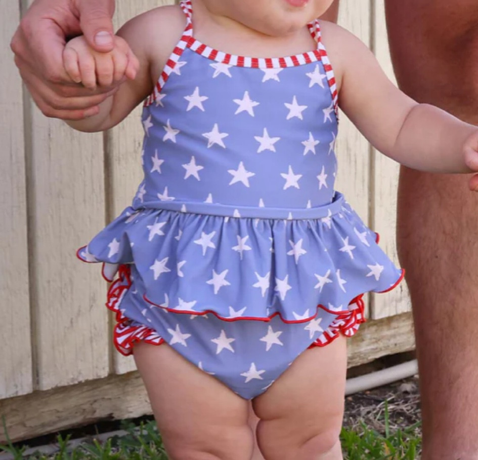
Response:
[{"label": "baby's chubby bare right-hand leg, nearer the adult's leg", "polygon": [[266,460],[341,460],[346,341],[302,353],[252,402]]}]

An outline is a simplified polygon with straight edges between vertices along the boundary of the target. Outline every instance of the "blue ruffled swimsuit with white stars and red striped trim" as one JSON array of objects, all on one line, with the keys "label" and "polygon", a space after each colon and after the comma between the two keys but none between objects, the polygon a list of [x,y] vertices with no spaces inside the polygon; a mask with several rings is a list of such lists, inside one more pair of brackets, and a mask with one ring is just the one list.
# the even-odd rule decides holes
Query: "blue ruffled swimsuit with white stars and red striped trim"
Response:
[{"label": "blue ruffled swimsuit with white stars and red striped trim", "polygon": [[144,180],[78,250],[104,262],[114,344],[167,342],[245,399],[303,351],[353,335],[364,292],[403,278],[334,191],[337,94],[320,41],[285,58],[183,36],[143,109]]}]

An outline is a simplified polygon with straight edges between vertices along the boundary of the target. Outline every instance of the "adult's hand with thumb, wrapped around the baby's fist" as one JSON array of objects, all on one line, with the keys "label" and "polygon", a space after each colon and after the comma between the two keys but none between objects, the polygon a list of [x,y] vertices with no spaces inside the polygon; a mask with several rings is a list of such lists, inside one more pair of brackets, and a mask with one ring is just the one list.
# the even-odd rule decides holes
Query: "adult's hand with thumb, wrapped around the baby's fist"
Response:
[{"label": "adult's hand with thumb, wrapped around the baby's fist", "polygon": [[113,48],[114,0],[35,0],[11,47],[33,100],[47,117],[78,120],[96,114],[118,83],[86,89],[63,68],[66,40],[83,33],[97,51]]}]

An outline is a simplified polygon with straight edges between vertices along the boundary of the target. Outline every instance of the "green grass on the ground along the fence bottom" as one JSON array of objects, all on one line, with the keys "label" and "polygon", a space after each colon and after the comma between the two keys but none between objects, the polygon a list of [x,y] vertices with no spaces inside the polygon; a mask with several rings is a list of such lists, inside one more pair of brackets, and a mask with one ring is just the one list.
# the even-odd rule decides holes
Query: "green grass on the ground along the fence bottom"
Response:
[{"label": "green grass on the ground along the fence bottom", "polygon": [[[420,438],[417,437],[418,424],[406,430],[392,431],[388,423],[388,406],[385,403],[383,414],[384,433],[370,430],[365,424],[360,429],[343,429],[341,433],[342,448],[346,460],[415,460],[420,451]],[[141,423],[136,427],[131,422],[123,421],[122,427],[128,434],[109,438],[104,443],[93,439],[73,450],[67,448],[70,436],[57,437],[59,451],[52,455],[40,453],[25,456],[28,446],[16,447],[8,441],[0,445],[2,451],[10,452],[15,460],[167,460],[162,448],[161,438],[154,421]],[[4,422],[5,430],[5,422]]]}]

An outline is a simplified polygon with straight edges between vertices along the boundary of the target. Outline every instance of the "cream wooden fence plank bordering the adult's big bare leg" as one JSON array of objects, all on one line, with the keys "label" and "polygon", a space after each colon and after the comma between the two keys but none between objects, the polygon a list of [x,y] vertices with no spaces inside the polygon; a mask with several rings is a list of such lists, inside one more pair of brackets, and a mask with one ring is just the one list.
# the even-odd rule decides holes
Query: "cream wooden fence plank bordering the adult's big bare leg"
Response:
[{"label": "cream wooden fence plank bordering the adult's big bare leg", "polygon": [[[383,2],[372,2],[373,43],[375,55],[388,77],[395,82],[392,62],[388,50],[385,25],[385,7]],[[380,152],[373,151],[373,210],[372,225],[380,234],[380,246],[394,259],[399,261],[396,247],[396,209],[399,165]],[[411,310],[408,290],[402,282],[395,290],[386,294],[374,294],[371,302],[373,319],[398,315]]]}]

